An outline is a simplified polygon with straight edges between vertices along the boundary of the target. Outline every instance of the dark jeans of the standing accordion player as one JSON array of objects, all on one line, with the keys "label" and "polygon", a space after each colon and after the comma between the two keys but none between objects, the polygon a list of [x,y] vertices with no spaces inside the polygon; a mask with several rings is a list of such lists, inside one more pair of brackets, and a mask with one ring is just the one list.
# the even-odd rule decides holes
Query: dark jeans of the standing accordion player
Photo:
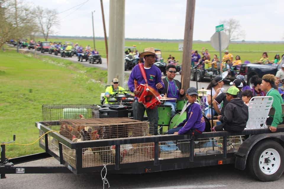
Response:
[{"label": "dark jeans of the standing accordion player", "polygon": [[139,103],[137,99],[133,103],[133,118],[135,120],[143,121],[144,112],[146,110],[148,121],[154,125],[154,135],[158,134],[158,109],[145,108],[143,104]]}]

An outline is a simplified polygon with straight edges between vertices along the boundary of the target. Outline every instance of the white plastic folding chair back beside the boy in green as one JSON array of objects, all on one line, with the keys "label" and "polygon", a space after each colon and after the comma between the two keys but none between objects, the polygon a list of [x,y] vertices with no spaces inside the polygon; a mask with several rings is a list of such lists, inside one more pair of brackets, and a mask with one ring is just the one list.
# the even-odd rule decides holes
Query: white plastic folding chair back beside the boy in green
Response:
[{"label": "white plastic folding chair back beside the boy in green", "polygon": [[249,101],[249,120],[245,129],[267,128],[266,120],[272,107],[273,97],[252,97]]}]

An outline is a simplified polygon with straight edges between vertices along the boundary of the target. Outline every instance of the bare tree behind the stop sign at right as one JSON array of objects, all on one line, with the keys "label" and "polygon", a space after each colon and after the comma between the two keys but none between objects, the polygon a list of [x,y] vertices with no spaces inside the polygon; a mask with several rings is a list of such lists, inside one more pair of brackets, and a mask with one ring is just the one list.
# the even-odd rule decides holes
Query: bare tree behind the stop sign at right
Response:
[{"label": "bare tree behind the stop sign at right", "polygon": [[220,24],[224,24],[224,31],[229,35],[229,39],[245,39],[246,32],[241,30],[240,21],[230,18],[229,20],[221,20]]}]

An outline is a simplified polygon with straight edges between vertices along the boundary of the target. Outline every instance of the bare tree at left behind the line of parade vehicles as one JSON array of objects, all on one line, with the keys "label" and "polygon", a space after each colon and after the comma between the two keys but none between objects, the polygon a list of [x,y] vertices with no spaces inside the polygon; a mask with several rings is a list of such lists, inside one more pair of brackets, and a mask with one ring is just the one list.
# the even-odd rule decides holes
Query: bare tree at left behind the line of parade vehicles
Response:
[{"label": "bare tree at left behind the line of parade vehicles", "polygon": [[55,9],[42,9],[40,6],[37,6],[35,9],[38,26],[40,28],[40,33],[43,35],[43,38],[47,41],[49,35],[54,34],[54,27],[59,26],[57,11]]}]

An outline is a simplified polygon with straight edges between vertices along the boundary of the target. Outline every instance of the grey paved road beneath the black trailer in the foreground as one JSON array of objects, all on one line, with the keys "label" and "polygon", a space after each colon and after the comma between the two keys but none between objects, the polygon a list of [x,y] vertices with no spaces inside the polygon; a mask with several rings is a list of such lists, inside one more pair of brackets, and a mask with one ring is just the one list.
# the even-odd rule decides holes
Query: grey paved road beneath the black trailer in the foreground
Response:
[{"label": "grey paved road beneath the black trailer in the foreground", "polygon": [[[54,158],[37,160],[22,165],[26,166],[58,166]],[[18,174],[6,175],[7,179],[0,180],[1,189],[96,189],[103,188],[101,175],[90,173],[74,174]],[[274,182],[263,183],[254,180],[248,172],[237,170],[233,165],[200,167],[185,170],[166,171],[147,174],[107,174],[111,188],[152,188],[152,189],[191,189],[191,188],[273,188],[282,189],[284,176]],[[107,186],[105,185],[105,188]]]}]

